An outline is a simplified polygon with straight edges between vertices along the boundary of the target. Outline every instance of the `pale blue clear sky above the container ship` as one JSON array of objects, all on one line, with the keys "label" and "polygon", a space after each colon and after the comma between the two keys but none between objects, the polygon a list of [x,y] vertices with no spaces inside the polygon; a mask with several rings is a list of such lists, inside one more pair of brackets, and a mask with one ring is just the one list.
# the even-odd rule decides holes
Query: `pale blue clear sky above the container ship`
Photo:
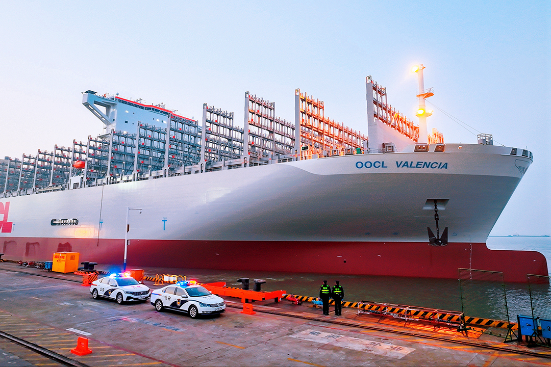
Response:
[{"label": "pale blue clear sky above the container ship", "polygon": [[[101,122],[81,104],[88,89],[196,119],[206,102],[242,126],[245,91],[292,121],[300,88],[366,134],[365,76],[416,120],[410,67],[423,63],[430,102],[534,154],[492,234],[551,234],[549,2],[339,3],[3,2],[0,155],[98,135]],[[428,127],[446,142],[476,143],[436,109]]]}]

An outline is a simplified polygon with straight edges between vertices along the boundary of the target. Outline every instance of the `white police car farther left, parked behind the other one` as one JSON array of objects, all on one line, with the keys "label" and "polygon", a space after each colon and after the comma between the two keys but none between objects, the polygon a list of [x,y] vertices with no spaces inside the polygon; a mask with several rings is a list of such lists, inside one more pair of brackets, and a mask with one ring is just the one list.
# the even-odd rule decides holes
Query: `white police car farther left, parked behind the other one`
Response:
[{"label": "white police car farther left, parked behind the other one", "polygon": [[118,304],[130,301],[142,301],[149,298],[149,287],[138,283],[128,273],[111,274],[93,281],[90,286],[92,298],[115,299]]}]

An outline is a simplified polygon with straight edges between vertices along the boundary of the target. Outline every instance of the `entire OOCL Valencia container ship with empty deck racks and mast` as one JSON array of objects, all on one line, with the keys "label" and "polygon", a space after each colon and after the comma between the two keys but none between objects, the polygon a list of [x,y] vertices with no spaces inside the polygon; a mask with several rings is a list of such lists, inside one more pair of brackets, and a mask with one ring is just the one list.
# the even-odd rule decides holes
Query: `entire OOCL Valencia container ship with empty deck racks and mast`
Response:
[{"label": "entire OOCL Valencia container ship with empty deck racks and mast", "polygon": [[532,153],[444,143],[366,78],[368,136],[295,90],[294,123],[245,93],[202,121],[163,103],[83,92],[99,136],[0,160],[4,259],[73,251],[99,264],[457,278],[458,269],[547,275],[536,251],[485,244]]}]

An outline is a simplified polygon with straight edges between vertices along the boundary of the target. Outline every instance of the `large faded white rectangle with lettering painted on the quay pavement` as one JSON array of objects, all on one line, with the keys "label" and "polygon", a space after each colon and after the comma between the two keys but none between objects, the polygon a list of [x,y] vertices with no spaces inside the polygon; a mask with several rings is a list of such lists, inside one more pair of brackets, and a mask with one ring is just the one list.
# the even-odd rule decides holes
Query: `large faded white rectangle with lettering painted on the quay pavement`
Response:
[{"label": "large faded white rectangle with lettering painted on the quay pavement", "polygon": [[353,338],[344,335],[331,334],[310,329],[289,336],[292,338],[303,339],[310,342],[331,344],[336,347],[359,350],[360,352],[373,353],[397,359],[401,359],[405,355],[415,350],[414,348],[395,346],[390,343],[382,343],[369,339]]}]

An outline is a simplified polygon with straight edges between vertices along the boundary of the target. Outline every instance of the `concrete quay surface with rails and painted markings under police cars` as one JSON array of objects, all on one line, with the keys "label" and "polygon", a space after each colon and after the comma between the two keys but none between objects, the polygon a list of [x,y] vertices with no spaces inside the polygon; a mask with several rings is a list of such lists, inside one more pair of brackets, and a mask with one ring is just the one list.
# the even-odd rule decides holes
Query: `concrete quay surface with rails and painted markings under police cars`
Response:
[{"label": "concrete quay surface with rails and painted markings under police cars", "polygon": [[[149,269],[147,275],[154,275]],[[161,273],[162,271],[159,271]],[[551,348],[482,329],[358,314],[323,316],[309,304],[226,298],[218,317],[157,312],[149,302],[93,300],[82,276],[0,263],[0,332],[88,366],[538,366]],[[160,288],[144,281],[150,288]],[[71,353],[78,337],[91,354]],[[63,365],[0,337],[2,365]]]}]

